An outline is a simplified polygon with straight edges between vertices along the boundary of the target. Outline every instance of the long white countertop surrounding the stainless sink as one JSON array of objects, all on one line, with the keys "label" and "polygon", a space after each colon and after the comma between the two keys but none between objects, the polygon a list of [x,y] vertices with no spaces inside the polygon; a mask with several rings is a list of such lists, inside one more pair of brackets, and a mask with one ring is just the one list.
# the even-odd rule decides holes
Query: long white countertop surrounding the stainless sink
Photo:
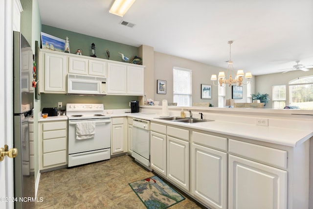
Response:
[{"label": "long white countertop surrounding the stainless sink", "polygon": [[[250,125],[239,122],[225,122],[225,121],[208,121],[198,122],[194,124],[173,122],[168,120],[156,119],[160,117],[159,114],[145,114],[145,113],[116,113],[110,114],[111,117],[131,116],[150,121],[162,122],[166,124],[194,128],[203,131],[210,131],[219,134],[230,135],[234,137],[241,137],[246,139],[259,140],[269,143],[286,145],[296,147],[298,144],[313,137],[313,130],[299,130],[292,128],[270,127]],[[177,115],[178,116],[178,115]]]}]

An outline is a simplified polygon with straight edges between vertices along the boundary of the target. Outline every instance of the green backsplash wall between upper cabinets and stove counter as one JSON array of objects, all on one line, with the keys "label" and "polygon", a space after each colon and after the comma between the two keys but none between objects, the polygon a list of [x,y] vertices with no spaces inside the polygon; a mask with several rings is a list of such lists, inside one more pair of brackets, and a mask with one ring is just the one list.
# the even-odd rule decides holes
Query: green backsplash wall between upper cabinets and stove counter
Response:
[{"label": "green backsplash wall between upper cabinets and stove counter", "polygon": [[129,109],[129,102],[138,100],[138,96],[107,95],[107,96],[78,96],[67,94],[41,93],[41,107],[58,107],[58,102],[62,102],[62,109],[66,109],[67,103],[90,103],[104,104],[104,109]]}]

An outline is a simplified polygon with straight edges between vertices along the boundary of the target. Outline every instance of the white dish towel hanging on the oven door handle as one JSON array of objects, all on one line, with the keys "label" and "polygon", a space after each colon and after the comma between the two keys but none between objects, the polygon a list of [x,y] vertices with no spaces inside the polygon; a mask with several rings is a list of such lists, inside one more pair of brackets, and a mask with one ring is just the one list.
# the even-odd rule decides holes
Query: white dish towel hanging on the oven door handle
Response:
[{"label": "white dish towel hanging on the oven door handle", "polygon": [[96,123],[94,121],[76,122],[76,139],[91,139],[96,133]]}]

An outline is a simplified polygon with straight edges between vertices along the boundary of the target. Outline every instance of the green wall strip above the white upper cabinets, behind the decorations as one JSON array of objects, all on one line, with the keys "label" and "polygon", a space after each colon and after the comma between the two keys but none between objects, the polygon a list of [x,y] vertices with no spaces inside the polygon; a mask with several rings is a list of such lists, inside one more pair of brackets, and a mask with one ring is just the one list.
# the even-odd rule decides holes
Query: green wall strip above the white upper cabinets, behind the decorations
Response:
[{"label": "green wall strip above the white upper cabinets, behind the decorations", "polygon": [[58,37],[60,39],[69,39],[69,48],[71,54],[76,54],[77,49],[83,50],[83,55],[90,56],[91,44],[95,44],[96,55],[98,58],[108,59],[106,49],[110,51],[110,60],[122,62],[122,57],[118,52],[124,56],[131,58],[138,55],[138,47],[120,44],[105,39],[100,39],[52,26],[42,25],[42,32]]}]

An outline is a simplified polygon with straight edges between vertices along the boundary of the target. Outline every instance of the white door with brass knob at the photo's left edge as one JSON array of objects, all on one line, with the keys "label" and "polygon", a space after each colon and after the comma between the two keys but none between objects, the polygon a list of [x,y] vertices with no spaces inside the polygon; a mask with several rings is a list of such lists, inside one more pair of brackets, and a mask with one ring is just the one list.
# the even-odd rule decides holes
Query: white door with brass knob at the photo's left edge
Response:
[{"label": "white door with brass knob at the photo's left edge", "polygon": [[[12,79],[12,8],[11,0],[0,1],[0,147],[4,144],[12,148],[12,108],[11,108],[11,79]],[[5,158],[0,162],[0,197],[13,197],[13,159]],[[0,201],[1,209],[13,209],[14,202]]]}]

